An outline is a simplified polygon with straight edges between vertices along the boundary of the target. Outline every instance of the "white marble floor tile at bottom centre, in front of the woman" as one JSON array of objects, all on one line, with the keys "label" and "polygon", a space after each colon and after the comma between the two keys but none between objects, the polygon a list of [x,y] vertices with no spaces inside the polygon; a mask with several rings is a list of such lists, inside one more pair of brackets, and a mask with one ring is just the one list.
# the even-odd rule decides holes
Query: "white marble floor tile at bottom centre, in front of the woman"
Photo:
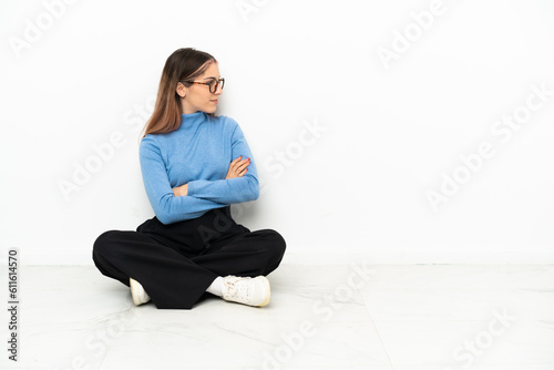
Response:
[{"label": "white marble floor tile at bottom centre, in front of the woman", "polygon": [[[148,350],[136,352],[136,347]],[[215,351],[215,352],[214,352]],[[216,354],[215,354],[216,353]],[[367,321],[301,322],[226,320],[137,321],[111,347],[102,369],[122,366],[192,368],[212,363],[258,369],[315,363],[347,367],[388,366],[377,332]]]}]

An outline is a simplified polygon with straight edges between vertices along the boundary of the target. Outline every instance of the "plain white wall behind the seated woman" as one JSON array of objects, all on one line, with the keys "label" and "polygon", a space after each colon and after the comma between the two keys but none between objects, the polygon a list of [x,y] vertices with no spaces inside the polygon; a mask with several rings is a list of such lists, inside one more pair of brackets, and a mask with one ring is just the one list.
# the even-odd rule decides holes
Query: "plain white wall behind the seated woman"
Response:
[{"label": "plain white wall behind the seated woman", "polygon": [[166,58],[194,47],[264,183],[236,219],[279,230],[286,260],[554,263],[553,2],[72,2],[0,4],[2,259],[92,264],[98,235],[153,216],[137,130]]}]

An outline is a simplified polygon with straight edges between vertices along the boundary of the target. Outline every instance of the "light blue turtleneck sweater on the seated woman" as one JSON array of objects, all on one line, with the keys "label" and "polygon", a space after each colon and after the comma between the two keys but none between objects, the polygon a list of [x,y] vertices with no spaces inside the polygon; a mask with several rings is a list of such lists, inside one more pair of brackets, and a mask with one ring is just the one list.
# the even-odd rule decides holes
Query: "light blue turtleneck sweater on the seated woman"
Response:
[{"label": "light blue turtleneck sweater on the seated woman", "polygon": [[[250,158],[243,177],[225,179],[238,156]],[[177,130],[141,141],[141,171],[146,195],[163,224],[196,218],[213,208],[257,199],[258,172],[238,124],[204,112],[183,114]],[[173,187],[188,183],[186,196]]]}]

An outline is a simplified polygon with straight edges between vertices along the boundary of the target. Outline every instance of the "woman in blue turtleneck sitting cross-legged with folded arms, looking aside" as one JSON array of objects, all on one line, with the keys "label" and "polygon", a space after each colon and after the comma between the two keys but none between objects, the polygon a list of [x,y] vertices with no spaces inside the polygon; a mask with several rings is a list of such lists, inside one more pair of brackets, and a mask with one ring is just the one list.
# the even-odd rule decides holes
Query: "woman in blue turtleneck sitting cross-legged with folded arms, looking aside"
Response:
[{"label": "woman in blue turtleneck sitting cross-legged with folded arms, looking aside", "polygon": [[191,48],[167,59],[156,105],[140,145],[155,217],[96,239],[100,271],[131,287],[133,302],[189,309],[205,292],[260,307],[265,277],[285,240],[275,230],[236,224],[230,204],[259,195],[256,164],[238,124],[215,116],[224,79],[214,56]]}]

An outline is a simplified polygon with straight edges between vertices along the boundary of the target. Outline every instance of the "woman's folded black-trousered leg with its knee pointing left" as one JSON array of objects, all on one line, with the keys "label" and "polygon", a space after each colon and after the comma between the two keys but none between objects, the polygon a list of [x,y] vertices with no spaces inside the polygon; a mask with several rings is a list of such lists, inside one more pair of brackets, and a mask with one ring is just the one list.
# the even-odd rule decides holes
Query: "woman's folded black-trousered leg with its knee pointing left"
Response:
[{"label": "woman's folded black-trousered leg with its knee pointing left", "polygon": [[157,308],[189,309],[217,277],[178,251],[137,232],[111,230],[94,243],[99,270],[129,286],[136,279]]}]

